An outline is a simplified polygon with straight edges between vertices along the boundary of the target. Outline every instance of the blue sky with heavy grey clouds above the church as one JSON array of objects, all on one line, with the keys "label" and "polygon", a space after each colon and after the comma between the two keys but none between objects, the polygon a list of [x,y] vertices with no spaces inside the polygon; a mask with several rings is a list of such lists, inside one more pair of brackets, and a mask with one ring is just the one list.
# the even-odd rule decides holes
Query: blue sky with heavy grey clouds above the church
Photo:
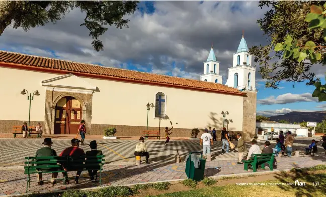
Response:
[{"label": "blue sky with heavy grey clouds above the church", "polygon": [[[249,48],[265,44],[256,24],[264,12],[258,1],[141,2],[135,14],[125,17],[130,28],[109,27],[100,37],[104,51],[96,52],[88,30],[80,27],[85,13],[75,9],[55,25],[28,32],[8,27],[0,37],[0,50],[199,80],[213,43],[225,83],[242,30]],[[326,110],[326,104],[311,97],[314,88],[305,83],[293,88],[282,82],[278,90],[265,89],[256,67],[258,114]],[[313,71],[324,82],[325,68],[315,66]]]}]

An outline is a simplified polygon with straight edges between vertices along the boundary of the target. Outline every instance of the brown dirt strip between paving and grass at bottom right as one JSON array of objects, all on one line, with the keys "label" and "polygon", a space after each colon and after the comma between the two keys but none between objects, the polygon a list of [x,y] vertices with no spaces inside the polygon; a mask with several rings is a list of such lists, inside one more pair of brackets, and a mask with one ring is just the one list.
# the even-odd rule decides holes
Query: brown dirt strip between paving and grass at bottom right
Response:
[{"label": "brown dirt strip between paving and grass at bottom right", "polygon": [[[318,171],[308,171],[305,172],[306,174],[320,174],[320,173],[326,173],[326,170],[318,170]],[[236,183],[254,183],[254,182],[264,182],[268,180],[276,180],[279,176],[286,176],[288,178],[296,178],[297,174],[294,172],[286,172],[286,175],[284,175],[284,172],[278,172],[278,173],[272,173],[272,174],[266,174],[266,175],[249,175],[245,177],[227,177],[222,179],[217,179],[217,183],[211,186],[224,186],[224,185],[235,185]],[[199,182],[197,187],[195,189],[201,189],[207,187],[203,183]],[[140,190],[139,194],[136,194],[134,196],[137,197],[143,197],[143,196],[151,196],[151,195],[159,195],[159,194],[165,194],[165,193],[173,193],[178,191],[189,191],[193,190],[194,188],[189,188],[184,186],[180,181],[171,183],[168,190],[165,191],[158,191],[152,188],[146,189],[146,190]]]}]

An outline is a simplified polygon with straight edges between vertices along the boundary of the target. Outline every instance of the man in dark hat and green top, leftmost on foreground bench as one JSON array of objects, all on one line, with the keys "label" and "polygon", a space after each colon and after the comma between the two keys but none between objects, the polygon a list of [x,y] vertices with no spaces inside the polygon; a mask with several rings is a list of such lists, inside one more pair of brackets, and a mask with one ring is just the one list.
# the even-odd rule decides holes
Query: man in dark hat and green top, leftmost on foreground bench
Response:
[{"label": "man in dark hat and green top, leftmost on foreground bench", "polygon": [[[43,148],[40,148],[36,151],[35,157],[56,157],[57,154],[55,150],[53,150],[52,147],[52,139],[51,138],[44,138]],[[44,159],[43,159],[44,160]],[[37,160],[40,161],[40,160]],[[42,161],[42,160],[41,160]],[[55,171],[55,169],[44,169],[43,171]],[[52,173],[52,178],[51,178],[51,184],[55,184],[56,178],[58,177],[58,172],[53,172]],[[36,174],[37,178],[37,184],[38,185],[43,185],[44,181],[42,180],[42,172],[39,172]]]}]

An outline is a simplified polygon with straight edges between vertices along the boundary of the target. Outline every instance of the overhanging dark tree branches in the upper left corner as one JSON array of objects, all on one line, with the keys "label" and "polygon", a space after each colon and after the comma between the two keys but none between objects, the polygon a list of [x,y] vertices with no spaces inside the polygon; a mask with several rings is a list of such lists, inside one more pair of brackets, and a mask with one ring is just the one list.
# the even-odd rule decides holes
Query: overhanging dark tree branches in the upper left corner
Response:
[{"label": "overhanging dark tree branches in the upper left corner", "polygon": [[127,14],[136,11],[138,1],[0,1],[0,36],[12,22],[15,29],[28,31],[61,20],[66,13],[79,8],[85,13],[84,23],[93,39],[96,51],[103,50],[99,37],[108,30],[107,25],[128,28]]}]

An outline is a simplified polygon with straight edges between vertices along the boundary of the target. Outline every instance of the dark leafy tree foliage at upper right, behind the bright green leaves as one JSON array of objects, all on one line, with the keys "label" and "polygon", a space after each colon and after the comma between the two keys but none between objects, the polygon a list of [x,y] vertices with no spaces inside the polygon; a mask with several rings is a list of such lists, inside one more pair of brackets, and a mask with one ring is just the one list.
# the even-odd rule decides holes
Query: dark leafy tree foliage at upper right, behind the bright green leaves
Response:
[{"label": "dark leafy tree foliage at upper right, behind the bright green leaves", "polygon": [[[303,82],[314,85],[319,79],[316,74],[310,72],[315,63],[325,64],[324,55],[313,58],[313,61],[298,61],[303,54],[296,53],[295,56],[283,51],[274,51],[276,43],[284,42],[287,35],[296,39],[296,45],[304,46],[307,41],[312,41],[325,46],[322,28],[309,28],[305,21],[311,5],[323,5],[321,1],[260,1],[259,6],[269,7],[264,18],[257,20],[263,34],[267,36],[268,44],[265,46],[253,46],[249,52],[255,56],[254,61],[261,67],[259,73],[267,82],[267,88],[278,88],[280,81]],[[288,46],[290,47],[290,46]],[[305,58],[303,58],[305,59]],[[309,59],[309,58],[308,58]]]}]

